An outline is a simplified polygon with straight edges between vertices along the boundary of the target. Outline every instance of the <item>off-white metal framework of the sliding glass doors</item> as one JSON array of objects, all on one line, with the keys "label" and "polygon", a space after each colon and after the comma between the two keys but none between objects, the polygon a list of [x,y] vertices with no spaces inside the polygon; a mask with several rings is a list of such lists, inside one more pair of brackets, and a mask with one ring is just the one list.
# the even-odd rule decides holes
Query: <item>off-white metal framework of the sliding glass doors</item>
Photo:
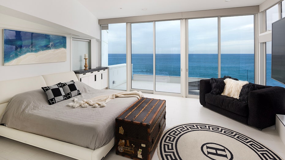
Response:
[{"label": "off-white metal framework of the sliding glass doors", "polygon": [[[242,15],[254,15],[254,41],[257,42],[258,38],[258,30],[257,30],[257,14],[242,14]],[[233,15],[233,16],[242,16],[242,15]],[[214,16],[218,17],[218,77],[221,77],[221,35],[220,35],[220,19],[221,17],[230,17],[231,15],[227,16]],[[195,17],[195,18],[206,18],[206,17]],[[154,91],[149,91],[149,90],[140,90],[140,89],[132,89],[131,88],[131,77],[132,77],[132,68],[131,68],[131,24],[132,23],[126,23],[126,34],[127,34],[127,42],[126,42],[126,57],[127,57],[127,91],[142,91],[144,93],[153,93],[153,94],[159,94],[159,95],[173,95],[173,96],[180,96],[180,97],[189,97],[189,98],[199,98],[199,95],[189,95],[188,94],[188,19],[179,19],[180,20],[180,28],[181,28],[181,33],[180,33],[180,45],[181,45],[181,50],[180,50],[180,58],[181,58],[181,93],[169,93],[169,92],[161,92],[161,91],[155,91],[155,65],[153,66],[153,87]],[[155,21],[149,21],[153,22],[153,61],[155,63]],[[257,66],[260,65],[258,64],[258,59],[262,57],[262,55],[258,54],[258,45],[259,43],[254,43],[254,81],[255,83],[258,83],[257,80],[260,79],[259,77],[262,76],[261,73],[258,72]]]}]

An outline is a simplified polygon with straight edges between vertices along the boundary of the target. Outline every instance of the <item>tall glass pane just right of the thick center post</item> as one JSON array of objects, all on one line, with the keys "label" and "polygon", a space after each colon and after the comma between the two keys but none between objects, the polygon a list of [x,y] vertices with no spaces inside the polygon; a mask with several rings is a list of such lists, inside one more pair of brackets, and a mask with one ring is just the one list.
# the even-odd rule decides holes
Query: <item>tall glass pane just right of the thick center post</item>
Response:
[{"label": "tall glass pane just right of the thick center post", "polygon": [[188,94],[199,95],[203,78],[218,78],[218,18],[188,20]]}]

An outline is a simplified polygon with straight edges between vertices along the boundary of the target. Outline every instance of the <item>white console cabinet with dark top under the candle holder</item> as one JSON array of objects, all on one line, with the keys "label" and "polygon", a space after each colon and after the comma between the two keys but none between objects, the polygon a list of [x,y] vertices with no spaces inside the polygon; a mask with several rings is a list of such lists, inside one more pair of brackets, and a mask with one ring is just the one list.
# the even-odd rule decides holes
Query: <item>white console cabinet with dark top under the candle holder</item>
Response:
[{"label": "white console cabinet with dark top under the candle holder", "polygon": [[[106,69],[105,69],[106,68]],[[95,88],[95,89],[104,89],[108,87],[108,69],[96,68],[89,69],[84,71],[74,71],[79,81]]]}]

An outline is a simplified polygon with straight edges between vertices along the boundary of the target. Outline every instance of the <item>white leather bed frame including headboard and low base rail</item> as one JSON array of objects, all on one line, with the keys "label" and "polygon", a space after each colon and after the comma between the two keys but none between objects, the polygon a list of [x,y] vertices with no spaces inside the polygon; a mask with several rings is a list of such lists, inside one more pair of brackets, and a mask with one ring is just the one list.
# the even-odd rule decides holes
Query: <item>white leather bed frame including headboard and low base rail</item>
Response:
[{"label": "white leather bed frame including headboard and low base rail", "polygon": [[[9,100],[14,95],[70,80],[78,81],[73,71],[0,81],[0,117],[7,107]],[[3,125],[0,125],[0,136],[82,160],[101,160],[115,144],[113,138],[107,145],[96,150],[91,150],[44,136],[8,128]]]}]

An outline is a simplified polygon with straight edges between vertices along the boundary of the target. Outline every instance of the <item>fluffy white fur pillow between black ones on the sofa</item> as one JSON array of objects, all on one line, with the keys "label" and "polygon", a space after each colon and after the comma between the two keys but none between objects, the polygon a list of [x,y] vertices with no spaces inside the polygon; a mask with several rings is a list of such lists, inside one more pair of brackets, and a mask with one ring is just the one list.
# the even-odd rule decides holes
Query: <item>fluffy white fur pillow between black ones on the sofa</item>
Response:
[{"label": "fluffy white fur pillow between black ones on the sofa", "polygon": [[233,80],[227,78],[224,80],[225,88],[221,95],[227,95],[229,97],[239,98],[239,93],[242,90],[242,86],[248,84],[248,81]]}]

